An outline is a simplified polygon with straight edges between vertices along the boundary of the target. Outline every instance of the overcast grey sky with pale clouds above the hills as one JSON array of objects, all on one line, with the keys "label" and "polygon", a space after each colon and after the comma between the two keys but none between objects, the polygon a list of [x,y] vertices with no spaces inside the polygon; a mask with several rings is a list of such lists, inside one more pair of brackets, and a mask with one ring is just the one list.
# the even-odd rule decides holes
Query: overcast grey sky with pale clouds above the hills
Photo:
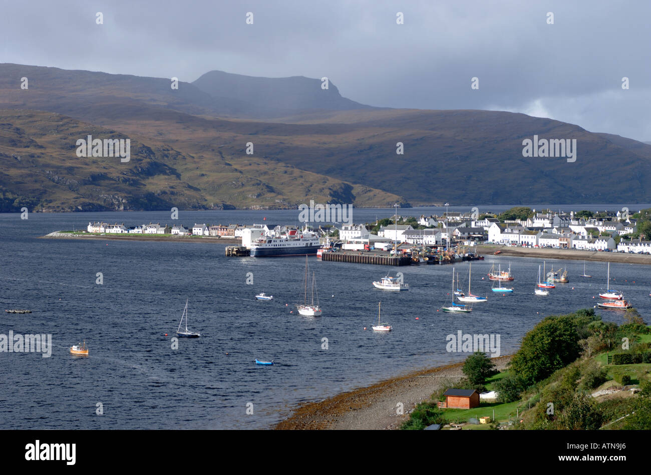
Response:
[{"label": "overcast grey sky with pale clouds above the hills", "polygon": [[0,62],[182,81],[210,70],[327,76],[342,96],[370,105],[514,111],[651,141],[648,0],[0,5]]}]

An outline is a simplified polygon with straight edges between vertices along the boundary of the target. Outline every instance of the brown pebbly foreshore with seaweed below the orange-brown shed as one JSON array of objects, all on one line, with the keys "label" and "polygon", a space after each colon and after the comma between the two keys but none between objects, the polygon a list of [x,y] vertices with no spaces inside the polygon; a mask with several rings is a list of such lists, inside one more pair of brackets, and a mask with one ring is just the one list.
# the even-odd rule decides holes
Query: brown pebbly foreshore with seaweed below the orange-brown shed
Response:
[{"label": "brown pebbly foreshore with seaweed below the orange-brown shed", "polygon": [[[493,358],[503,370],[513,355]],[[385,379],[374,385],[342,392],[323,401],[308,402],[292,410],[279,422],[277,430],[381,430],[398,429],[417,403],[430,400],[446,378],[464,377],[464,362],[417,370]],[[404,404],[404,415],[396,414],[397,403]]]}]

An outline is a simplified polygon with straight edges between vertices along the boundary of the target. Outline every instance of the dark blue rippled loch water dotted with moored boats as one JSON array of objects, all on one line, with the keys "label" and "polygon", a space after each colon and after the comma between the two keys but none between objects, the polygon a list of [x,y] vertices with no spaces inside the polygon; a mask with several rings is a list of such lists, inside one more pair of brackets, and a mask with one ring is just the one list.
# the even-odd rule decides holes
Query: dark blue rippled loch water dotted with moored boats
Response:
[{"label": "dark blue rippled loch water dotted with moored boats", "polygon": [[[393,212],[355,211],[355,222]],[[180,222],[253,223],[266,216],[289,223],[296,215],[182,212]],[[1,310],[33,310],[2,312],[0,333],[52,334],[54,347],[50,358],[0,353],[0,428],[268,428],[302,401],[464,359],[446,351],[445,337],[458,330],[500,334],[501,353],[512,353],[543,316],[596,305],[592,297],[605,286],[605,262],[589,262],[594,277],[581,279],[582,262],[547,260],[548,269],[567,265],[571,282],[536,297],[542,262],[510,258],[516,292],[493,295],[482,276],[509,259],[486,256],[473,263],[472,288],[488,302],[459,316],[437,312],[450,301],[450,265],[389,268],[311,258],[324,314],[306,318],[290,313],[302,294],[304,258],[226,258],[224,245],[206,243],[38,239],[98,220],[170,222],[169,213],[156,212],[0,215]],[[467,288],[468,264],[456,269]],[[411,290],[374,289],[372,280],[387,270],[402,271]],[[95,284],[98,272],[103,285]],[[245,283],[249,272],[253,285]],[[611,278],[648,319],[651,266],[611,264]],[[275,299],[255,301],[259,292]],[[171,349],[186,298],[189,327],[202,336]],[[364,330],[376,321],[380,300],[391,333]],[[621,321],[621,312],[602,314]],[[84,338],[90,356],[72,357],[68,347]],[[255,358],[278,364],[256,366]],[[102,416],[95,413],[99,402]]]}]

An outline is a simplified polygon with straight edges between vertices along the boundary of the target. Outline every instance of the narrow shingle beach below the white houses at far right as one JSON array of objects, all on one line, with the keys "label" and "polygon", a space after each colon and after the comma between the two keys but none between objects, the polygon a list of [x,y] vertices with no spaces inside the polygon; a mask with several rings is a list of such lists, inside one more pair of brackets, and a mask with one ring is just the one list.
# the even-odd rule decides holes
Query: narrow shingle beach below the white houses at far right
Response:
[{"label": "narrow shingle beach below the white houses at far right", "polygon": [[502,246],[477,246],[477,253],[483,256],[494,255],[495,251],[501,251],[495,257],[531,257],[542,259],[566,259],[586,260],[597,262],[623,262],[625,264],[646,264],[651,265],[651,255],[631,254],[628,252],[604,252],[604,251],[579,251],[575,249],[538,249],[531,247],[502,247]]}]

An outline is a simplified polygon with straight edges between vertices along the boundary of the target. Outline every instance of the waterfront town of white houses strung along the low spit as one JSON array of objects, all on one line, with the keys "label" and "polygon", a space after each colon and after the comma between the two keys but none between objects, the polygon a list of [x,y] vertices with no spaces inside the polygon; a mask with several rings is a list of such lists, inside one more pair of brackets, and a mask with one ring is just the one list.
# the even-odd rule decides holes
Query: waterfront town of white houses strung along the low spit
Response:
[{"label": "waterfront town of white houses strung along the low spit", "polygon": [[[477,245],[576,249],[648,254],[651,241],[638,232],[637,219],[628,212],[602,212],[592,217],[581,213],[549,210],[531,211],[527,219],[503,219],[452,212],[441,216],[397,216],[393,219],[360,224],[305,225],[303,228],[326,238],[344,251],[393,249],[394,243],[411,247],[452,249]],[[385,224],[381,224],[385,222]],[[127,228],[124,224],[89,223],[92,234],[158,234],[167,236],[212,236],[241,239],[250,248],[259,238],[294,236],[300,226],[284,224],[177,224],[149,223]],[[630,239],[635,236],[636,239]]]}]

